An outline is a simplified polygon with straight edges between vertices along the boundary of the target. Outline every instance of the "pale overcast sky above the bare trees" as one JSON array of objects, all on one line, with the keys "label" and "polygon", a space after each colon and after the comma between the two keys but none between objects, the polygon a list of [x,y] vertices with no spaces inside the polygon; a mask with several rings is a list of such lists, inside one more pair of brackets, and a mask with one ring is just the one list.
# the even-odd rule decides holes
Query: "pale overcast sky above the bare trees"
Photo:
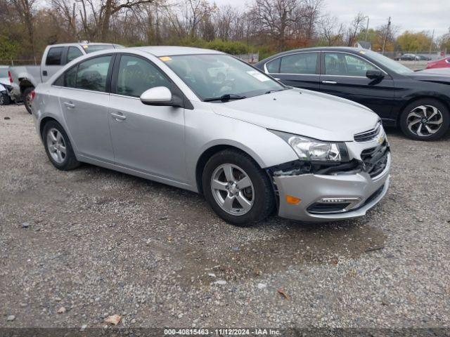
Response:
[{"label": "pale overcast sky above the bare trees", "polygon": [[[211,2],[213,0],[210,0]],[[216,4],[239,6],[245,8],[249,1],[215,0]],[[400,31],[409,29],[414,32],[435,29],[435,37],[449,31],[449,0],[324,0],[324,12],[330,12],[342,22],[349,22],[356,13],[362,12],[370,17],[369,28],[378,27],[392,17],[392,25],[399,26]]]}]

